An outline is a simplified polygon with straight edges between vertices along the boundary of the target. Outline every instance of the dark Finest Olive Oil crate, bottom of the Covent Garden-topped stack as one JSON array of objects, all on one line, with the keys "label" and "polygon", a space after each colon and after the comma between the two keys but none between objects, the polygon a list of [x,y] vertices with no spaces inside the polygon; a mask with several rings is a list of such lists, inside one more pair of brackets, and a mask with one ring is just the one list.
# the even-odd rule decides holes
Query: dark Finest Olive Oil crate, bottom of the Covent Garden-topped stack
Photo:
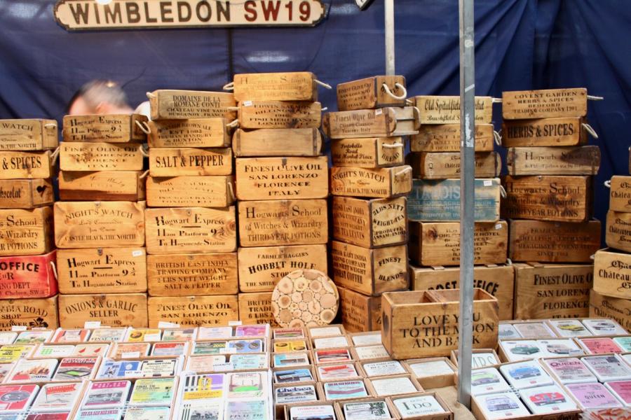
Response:
[{"label": "dark Finest Olive Oil crate, bottom of the Covent Garden-topped stack", "polygon": [[529,262],[514,267],[515,319],[588,315],[592,265]]}]

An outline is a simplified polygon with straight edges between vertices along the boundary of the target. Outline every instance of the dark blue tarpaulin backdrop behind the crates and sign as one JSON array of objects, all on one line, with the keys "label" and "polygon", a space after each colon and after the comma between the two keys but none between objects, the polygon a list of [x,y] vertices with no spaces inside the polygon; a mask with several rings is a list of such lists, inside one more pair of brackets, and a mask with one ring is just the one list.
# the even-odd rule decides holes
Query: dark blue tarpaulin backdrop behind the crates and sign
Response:
[{"label": "dark blue tarpaulin backdrop behind the crates and sign", "polygon": [[[231,73],[313,71],[331,85],[384,73],[384,4],[323,0],[313,28],[171,29],[70,33],[53,0],[0,0],[0,118],[60,120],[83,83],[111,78],[138,104],[160,88],[219,90]],[[397,73],[409,95],[459,94],[458,1],[396,0]],[[602,181],[627,174],[631,144],[631,7],[628,0],[476,0],[475,93],[588,87],[600,137]],[[320,101],[336,109],[334,91]],[[499,126],[497,106],[494,122]]]}]

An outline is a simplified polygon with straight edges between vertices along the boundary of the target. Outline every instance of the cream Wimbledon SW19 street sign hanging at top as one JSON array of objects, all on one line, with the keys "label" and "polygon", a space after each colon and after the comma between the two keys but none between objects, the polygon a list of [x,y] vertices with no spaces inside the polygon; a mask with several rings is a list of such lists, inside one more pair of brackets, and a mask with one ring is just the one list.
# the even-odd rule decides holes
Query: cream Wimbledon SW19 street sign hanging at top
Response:
[{"label": "cream Wimbledon SW19 street sign hanging at top", "polygon": [[313,26],[320,0],[60,0],[55,19],[69,31],[186,27]]}]

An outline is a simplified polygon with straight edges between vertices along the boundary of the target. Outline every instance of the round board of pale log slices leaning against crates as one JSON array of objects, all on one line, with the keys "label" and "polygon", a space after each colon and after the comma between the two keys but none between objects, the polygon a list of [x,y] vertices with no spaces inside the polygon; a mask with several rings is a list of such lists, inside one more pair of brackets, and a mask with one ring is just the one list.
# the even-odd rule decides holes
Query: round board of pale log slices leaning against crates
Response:
[{"label": "round board of pale log slices leaning against crates", "polygon": [[272,293],[272,313],[281,327],[330,324],[339,307],[337,287],[317,269],[297,269],[280,279]]}]

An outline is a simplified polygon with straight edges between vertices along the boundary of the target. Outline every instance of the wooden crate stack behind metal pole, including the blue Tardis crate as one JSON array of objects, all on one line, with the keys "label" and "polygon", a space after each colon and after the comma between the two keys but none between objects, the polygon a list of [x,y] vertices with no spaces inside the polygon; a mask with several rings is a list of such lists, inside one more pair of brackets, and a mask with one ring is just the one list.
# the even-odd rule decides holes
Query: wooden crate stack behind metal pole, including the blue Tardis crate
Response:
[{"label": "wooden crate stack behind metal pole, including the blue Tardis crate", "polygon": [[[460,98],[417,96],[421,129],[412,136],[414,187],[409,198],[413,290],[459,288]],[[513,318],[513,267],[506,265],[508,223],[500,220],[501,158],[494,151],[491,97],[475,98],[474,287],[498,300],[499,319]]]}]

